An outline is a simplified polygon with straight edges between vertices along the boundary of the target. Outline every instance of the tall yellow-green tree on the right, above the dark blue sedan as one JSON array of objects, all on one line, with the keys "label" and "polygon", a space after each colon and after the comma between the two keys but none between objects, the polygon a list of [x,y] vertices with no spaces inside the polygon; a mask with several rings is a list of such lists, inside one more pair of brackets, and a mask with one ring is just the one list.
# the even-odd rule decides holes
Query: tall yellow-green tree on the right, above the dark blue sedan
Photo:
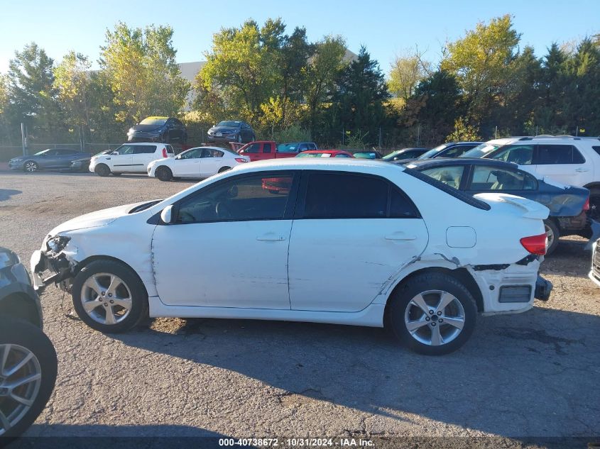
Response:
[{"label": "tall yellow-green tree on the right, above the dark blue sedan", "polygon": [[519,40],[511,16],[506,15],[478,23],[464,38],[447,45],[440,67],[456,75],[469,99],[471,118],[478,123],[505,94]]}]

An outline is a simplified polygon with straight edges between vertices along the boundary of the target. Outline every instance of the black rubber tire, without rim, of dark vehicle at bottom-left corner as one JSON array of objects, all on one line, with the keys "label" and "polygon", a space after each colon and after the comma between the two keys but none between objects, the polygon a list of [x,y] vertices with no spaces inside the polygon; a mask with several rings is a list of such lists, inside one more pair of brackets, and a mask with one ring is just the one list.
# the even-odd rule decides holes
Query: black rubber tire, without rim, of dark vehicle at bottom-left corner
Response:
[{"label": "black rubber tire, without rim, of dark vehicle at bottom-left corner", "polygon": [[[8,431],[5,433],[0,433],[0,446],[3,446],[4,443],[8,443],[11,438],[21,435],[21,433],[26,431],[27,428],[31,426],[33,421],[36,421],[36,418],[38,418],[48,403],[48,399],[50,399],[50,395],[53,392],[58,368],[56,351],[54,350],[52,342],[47,336],[45,336],[45,333],[43,333],[40,328],[33,326],[31,323],[18,320],[0,319],[0,354],[4,355],[4,350],[6,347],[3,345],[8,344],[19,345],[33,353],[33,357],[30,359],[30,362],[22,367],[21,370],[17,371],[13,376],[21,375],[24,377],[25,375],[31,375],[31,372],[27,373],[26,370],[31,367],[32,363],[35,364],[35,359],[37,359],[40,367],[41,377],[36,396],[30,397],[30,399],[33,399],[33,404],[28,411],[26,411],[26,413],[23,414],[23,416],[21,416],[21,418],[18,419],[13,426],[11,426],[11,428],[9,428]],[[15,348],[11,349],[13,351],[15,350]],[[1,368],[2,367],[0,367],[0,369]],[[8,381],[11,379],[14,380],[12,377],[9,377]],[[0,382],[0,387],[1,385],[2,382]],[[13,404],[9,402],[10,399],[5,398],[5,400],[6,401],[2,401],[0,399],[0,404],[2,405],[3,411],[6,414],[9,413]],[[15,405],[18,406],[18,404]]]}]

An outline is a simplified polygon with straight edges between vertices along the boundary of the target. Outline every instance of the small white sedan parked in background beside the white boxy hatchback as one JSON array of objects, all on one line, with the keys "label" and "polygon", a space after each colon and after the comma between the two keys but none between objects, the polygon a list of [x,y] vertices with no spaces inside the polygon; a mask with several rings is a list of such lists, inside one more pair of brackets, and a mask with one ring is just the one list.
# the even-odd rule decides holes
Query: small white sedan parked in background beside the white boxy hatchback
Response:
[{"label": "small white sedan parked in background beside the white boxy hatchback", "polygon": [[244,162],[250,162],[250,158],[226,148],[196,147],[173,158],[151,162],[148,165],[148,176],[157,177],[161,181],[173,178],[207,178]]}]

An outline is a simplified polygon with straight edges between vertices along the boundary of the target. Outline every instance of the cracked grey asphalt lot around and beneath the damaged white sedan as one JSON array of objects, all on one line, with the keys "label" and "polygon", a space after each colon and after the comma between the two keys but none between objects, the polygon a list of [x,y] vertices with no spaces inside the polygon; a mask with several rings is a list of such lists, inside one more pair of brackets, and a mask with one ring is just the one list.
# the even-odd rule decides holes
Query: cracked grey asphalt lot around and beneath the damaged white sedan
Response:
[{"label": "cracked grey asphalt lot around and beneath the damaged white sedan", "polygon": [[[26,262],[51,228],[189,182],[0,173],[0,245]],[[479,317],[444,357],[383,330],[160,318],[105,336],[70,297],[42,296],[59,357],[55,392],[28,436],[600,436],[600,289],[584,241],[542,265],[554,284],[525,314]]]}]

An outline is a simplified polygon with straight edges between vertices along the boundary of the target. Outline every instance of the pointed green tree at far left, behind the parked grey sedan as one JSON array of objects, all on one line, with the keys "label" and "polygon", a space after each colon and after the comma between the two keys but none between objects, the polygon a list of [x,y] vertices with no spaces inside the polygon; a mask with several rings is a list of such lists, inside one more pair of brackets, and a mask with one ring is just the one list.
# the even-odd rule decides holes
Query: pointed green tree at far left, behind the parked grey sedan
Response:
[{"label": "pointed green tree at far left, behind the parked grey sedan", "polygon": [[9,62],[8,96],[15,121],[48,131],[55,126],[58,105],[53,87],[53,60],[36,43],[15,52]]}]

